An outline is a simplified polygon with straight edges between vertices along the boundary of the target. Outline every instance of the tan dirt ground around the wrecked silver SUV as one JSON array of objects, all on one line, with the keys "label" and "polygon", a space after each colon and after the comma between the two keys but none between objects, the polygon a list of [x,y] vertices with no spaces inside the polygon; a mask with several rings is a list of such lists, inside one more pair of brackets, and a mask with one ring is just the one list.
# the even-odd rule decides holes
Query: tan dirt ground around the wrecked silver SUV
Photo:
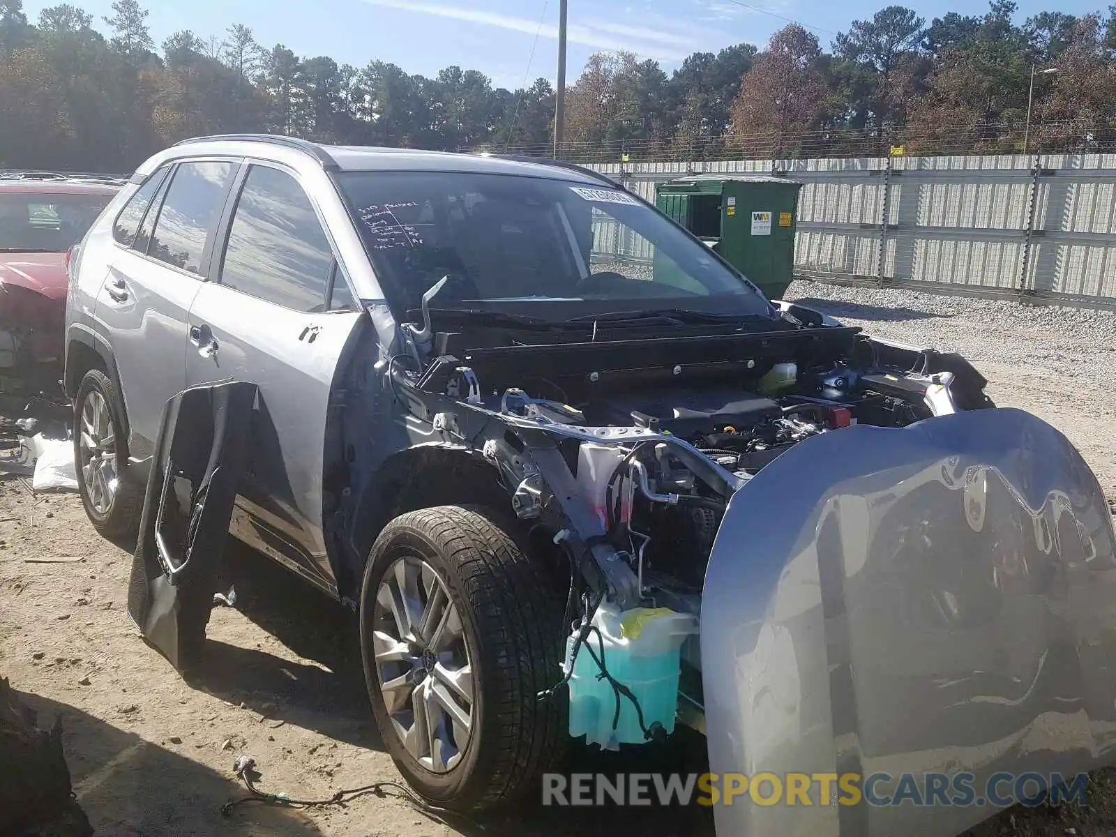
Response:
[{"label": "tan dirt ground around the wrecked silver SUV", "polygon": [[[1059,385],[1052,372],[981,368],[999,404],[1059,426],[1116,496],[1116,411],[1107,394]],[[36,497],[27,481],[0,479],[0,674],[45,724],[61,714],[75,790],[98,834],[712,834],[704,810],[527,806],[499,819],[446,824],[397,798],[372,796],[309,810],[244,805],[223,817],[221,806],[243,796],[231,771],[240,754],[256,758],[263,790],[290,796],[325,798],[398,779],[372,723],[353,617],[248,550],[238,548],[230,562],[237,608],[214,610],[210,663],[187,683],[128,620],[129,550],[94,532],[75,494]],[[665,769],[684,759],[700,769],[700,741],[672,747],[629,768]],[[581,758],[589,769],[624,767]],[[1095,777],[1090,799],[1096,807],[1086,811],[1004,812],[979,834],[1108,834],[1116,828],[1109,776]]]}]

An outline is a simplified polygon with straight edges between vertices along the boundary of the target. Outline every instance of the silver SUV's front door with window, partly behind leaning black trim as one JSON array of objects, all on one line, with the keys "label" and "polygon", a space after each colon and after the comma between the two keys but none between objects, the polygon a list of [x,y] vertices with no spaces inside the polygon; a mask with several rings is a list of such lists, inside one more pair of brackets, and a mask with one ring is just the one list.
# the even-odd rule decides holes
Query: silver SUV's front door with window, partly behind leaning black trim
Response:
[{"label": "silver SUV's front door with window, partly behind leaning black trim", "polygon": [[259,387],[233,532],[336,593],[321,527],[326,413],[363,315],[297,175],[252,164],[240,181],[215,281],[190,311],[186,378]]}]

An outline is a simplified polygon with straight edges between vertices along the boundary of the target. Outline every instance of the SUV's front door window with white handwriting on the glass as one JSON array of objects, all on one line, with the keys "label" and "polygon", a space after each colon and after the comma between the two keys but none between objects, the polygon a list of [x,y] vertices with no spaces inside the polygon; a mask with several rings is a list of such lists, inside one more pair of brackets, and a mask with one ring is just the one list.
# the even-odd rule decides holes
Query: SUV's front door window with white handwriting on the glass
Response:
[{"label": "SUV's front door window with white handwriting on the glass", "polygon": [[221,282],[298,311],[321,311],[333,263],[329,240],[298,181],[252,166],[229,228]]}]

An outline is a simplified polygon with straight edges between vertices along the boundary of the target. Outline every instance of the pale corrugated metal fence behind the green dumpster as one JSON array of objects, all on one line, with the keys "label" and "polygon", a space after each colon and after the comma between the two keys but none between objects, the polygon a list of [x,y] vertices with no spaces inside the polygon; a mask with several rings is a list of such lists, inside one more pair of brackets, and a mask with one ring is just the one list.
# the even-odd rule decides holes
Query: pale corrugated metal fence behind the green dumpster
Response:
[{"label": "pale corrugated metal fence behind the green dumpster", "polygon": [[654,201],[686,174],[805,183],[799,278],[1116,307],[1116,154],[589,164]]}]

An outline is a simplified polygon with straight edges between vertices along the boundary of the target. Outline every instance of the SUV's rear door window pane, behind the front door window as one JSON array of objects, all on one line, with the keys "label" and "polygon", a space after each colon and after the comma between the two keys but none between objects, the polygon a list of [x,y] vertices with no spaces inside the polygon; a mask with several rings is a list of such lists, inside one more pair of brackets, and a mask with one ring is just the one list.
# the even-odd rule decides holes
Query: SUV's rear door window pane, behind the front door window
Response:
[{"label": "SUV's rear door window pane, behind the front door window", "polygon": [[232,163],[181,163],[155,221],[147,254],[200,273],[205,239],[221,215]]}]

